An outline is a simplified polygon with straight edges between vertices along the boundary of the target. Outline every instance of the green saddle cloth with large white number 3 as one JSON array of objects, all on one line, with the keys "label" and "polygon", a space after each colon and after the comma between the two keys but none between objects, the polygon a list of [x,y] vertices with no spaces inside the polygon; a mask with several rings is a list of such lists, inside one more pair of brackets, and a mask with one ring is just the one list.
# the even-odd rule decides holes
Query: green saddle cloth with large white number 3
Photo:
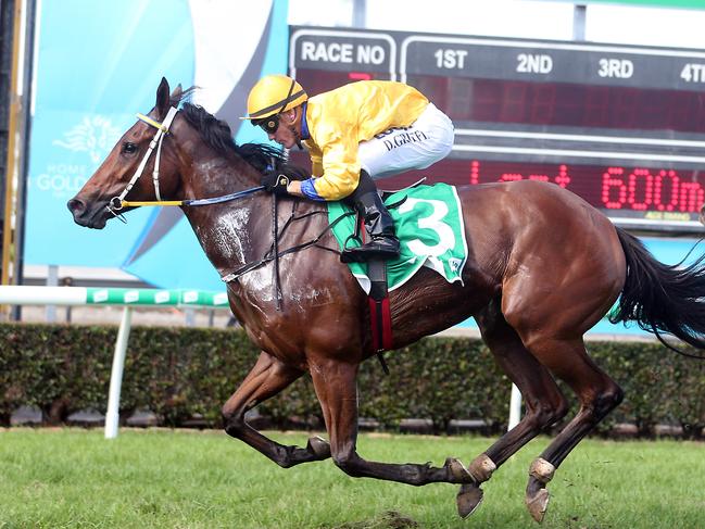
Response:
[{"label": "green saddle cloth with large white number 3", "polygon": [[[449,282],[463,284],[467,241],[455,187],[448,184],[417,186],[393,193],[385,202],[395,204],[402,200],[398,207],[390,209],[401,242],[401,254],[387,262],[389,290],[404,285],[421,266],[435,269]],[[333,225],[332,231],[341,249],[355,229],[355,216],[336,221],[349,211],[350,207],[342,202],[328,202],[328,219]],[[358,243],[351,239],[348,241],[350,245]],[[349,263],[349,266],[365,293],[369,293],[367,265]]]}]

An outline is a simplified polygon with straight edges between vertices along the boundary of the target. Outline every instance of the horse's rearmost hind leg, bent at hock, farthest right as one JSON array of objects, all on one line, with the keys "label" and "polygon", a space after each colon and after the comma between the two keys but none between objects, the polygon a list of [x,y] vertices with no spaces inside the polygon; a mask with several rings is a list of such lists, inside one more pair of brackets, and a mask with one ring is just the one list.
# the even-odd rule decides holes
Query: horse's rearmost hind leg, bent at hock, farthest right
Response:
[{"label": "horse's rearmost hind leg, bent at hock, farthest right", "polygon": [[531,353],[576,392],[580,410],[529,468],[526,502],[537,521],[549,503],[546,483],[570,451],[622,400],[624,393],[588,356],[582,338],[525,338]]}]

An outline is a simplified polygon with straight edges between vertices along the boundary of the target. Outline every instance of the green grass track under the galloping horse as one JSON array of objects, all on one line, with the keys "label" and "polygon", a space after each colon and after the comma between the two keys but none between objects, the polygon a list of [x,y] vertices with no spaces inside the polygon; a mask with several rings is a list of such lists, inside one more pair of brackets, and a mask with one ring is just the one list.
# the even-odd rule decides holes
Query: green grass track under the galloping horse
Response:
[{"label": "green grass track under the galloping horse", "polygon": [[[285,444],[306,434],[273,432]],[[388,462],[449,455],[468,463],[492,440],[369,436],[361,454]],[[224,433],[0,429],[0,528],[705,528],[705,445],[691,442],[581,443],[550,483],[542,526],[524,507],[533,441],[483,487],[468,519],[455,486],[414,488],[353,479],[330,462],[277,467]]]}]

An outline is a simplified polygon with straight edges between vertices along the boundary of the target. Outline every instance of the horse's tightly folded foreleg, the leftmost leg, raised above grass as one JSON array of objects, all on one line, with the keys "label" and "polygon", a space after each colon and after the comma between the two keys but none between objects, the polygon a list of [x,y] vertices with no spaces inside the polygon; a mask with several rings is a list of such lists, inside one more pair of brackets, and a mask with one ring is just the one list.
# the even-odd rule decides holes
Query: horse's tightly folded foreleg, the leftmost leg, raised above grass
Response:
[{"label": "horse's tightly folded foreleg, the leftmost leg, raised above grass", "polygon": [[244,414],[259,403],[279,393],[301,375],[303,371],[300,369],[288,366],[268,353],[262,352],[244,381],[223,406],[225,431],[229,436],[244,441],[284,468],[330,457],[328,443],[319,437],[313,437],[309,439],[305,449],[285,446],[248,425]]}]

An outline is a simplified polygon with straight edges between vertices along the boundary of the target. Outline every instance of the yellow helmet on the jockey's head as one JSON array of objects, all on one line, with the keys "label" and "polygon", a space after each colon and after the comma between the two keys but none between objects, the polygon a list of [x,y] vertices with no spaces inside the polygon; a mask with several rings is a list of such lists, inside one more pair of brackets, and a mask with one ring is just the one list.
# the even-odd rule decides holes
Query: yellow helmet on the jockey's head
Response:
[{"label": "yellow helmet on the jockey's head", "polygon": [[248,115],[241,119],[262,119],[277,115],[306,101],[305,90],[291,77],[286,75],[267,75],[262,77],[250,90],[248,97]]}]

